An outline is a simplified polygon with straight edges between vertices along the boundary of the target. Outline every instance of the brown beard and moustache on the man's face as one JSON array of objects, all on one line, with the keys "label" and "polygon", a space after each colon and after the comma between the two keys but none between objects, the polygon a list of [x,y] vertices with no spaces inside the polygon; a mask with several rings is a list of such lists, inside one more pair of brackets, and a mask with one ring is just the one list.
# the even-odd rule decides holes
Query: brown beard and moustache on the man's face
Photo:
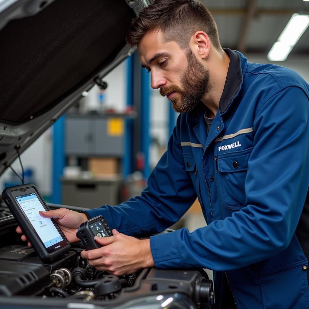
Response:
[{"label": "brown beard and moustache on the man's face", "polygon": [[192,111],[200,102],[203,95],[209,92],[211,88],[209,70],[197,60],[189,47],[186,49],[185,54],[187,56],[188,65],[180,77],[180,84],[183,89],[175,85],[160,89],[160,94],[162,96],[172,91],[180,93],[180,99],[174,96],[170,100],[172,108],[177,113]]}]

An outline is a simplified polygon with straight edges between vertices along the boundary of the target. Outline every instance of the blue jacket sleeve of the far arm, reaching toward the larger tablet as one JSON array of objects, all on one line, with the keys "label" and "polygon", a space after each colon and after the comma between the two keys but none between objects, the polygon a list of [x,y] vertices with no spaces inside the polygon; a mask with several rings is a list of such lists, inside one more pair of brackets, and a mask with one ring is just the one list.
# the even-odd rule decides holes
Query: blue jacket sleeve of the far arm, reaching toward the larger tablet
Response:
[{"label": "blue jacket sleeve of the far arm, reaching toward the larger tablet", "polygon": [[167,151],[151,172],[141,196],[117,206],[104,205],[87,210],[91,218],[102,215],[111,228],[135,236],[161,232],[181,218],[197,194],[184,167],[179,138],[180,117]]}]

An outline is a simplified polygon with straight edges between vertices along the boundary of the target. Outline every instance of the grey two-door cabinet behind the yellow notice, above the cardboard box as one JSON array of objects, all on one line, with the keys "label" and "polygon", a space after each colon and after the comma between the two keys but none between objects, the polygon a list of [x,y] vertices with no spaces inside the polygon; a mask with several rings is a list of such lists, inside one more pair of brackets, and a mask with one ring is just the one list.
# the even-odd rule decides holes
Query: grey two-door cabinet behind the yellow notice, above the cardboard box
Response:
[{"label": "grey two-door cabinet behind the yellow notice, above the cardboard box", "polygon": [[66,155],[122,157],[124,137],[108,134],[108,121],[99,115],[66,117]]}]

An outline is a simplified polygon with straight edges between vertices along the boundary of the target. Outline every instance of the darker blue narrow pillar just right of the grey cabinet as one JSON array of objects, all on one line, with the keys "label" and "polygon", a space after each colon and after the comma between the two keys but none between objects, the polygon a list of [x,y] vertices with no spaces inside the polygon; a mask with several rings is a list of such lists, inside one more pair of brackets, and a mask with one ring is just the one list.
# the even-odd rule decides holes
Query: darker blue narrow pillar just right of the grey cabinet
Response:
[{"label": "darker blue narrow pillar just right of the grey cabinet", "polygon": [[[133,108],[134,101],[134,55],[126,60],[127,68],[127,108]],[[123,176],[126,177],[133,172],[133,119],[125,120],[125,147],[122,158]]]}]

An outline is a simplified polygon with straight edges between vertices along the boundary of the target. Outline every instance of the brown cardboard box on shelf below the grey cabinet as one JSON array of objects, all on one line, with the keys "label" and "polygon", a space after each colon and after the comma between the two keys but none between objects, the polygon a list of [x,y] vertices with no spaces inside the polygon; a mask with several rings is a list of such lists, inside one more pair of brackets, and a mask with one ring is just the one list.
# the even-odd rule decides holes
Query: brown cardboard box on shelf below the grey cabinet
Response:
[{"label": "brown cardboard box on shelf below the grey cabinet", "polygon": [[106,175],[119,173],[119,159],[117,158],[89,158],[88,170],[93,175]]}]

